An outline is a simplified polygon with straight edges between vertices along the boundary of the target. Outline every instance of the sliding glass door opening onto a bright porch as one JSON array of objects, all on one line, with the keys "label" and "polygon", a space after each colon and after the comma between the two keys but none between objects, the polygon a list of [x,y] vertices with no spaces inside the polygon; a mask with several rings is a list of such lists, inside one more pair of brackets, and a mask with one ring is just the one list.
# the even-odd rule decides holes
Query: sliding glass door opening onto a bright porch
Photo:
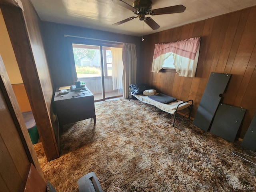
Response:
[{"label": "sliding glass door opening onto a bright porch", "polygon": [[77,80],[94,94],[94,101],[123,95],[122,46],[72,43]]}]

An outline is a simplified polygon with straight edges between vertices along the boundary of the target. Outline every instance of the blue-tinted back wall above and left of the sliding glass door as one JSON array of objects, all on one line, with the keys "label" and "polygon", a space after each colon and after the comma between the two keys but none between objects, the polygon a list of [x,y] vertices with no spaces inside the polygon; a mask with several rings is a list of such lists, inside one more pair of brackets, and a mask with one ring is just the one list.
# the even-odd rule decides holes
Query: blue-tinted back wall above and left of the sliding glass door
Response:
[{"label": "blue-tinted back wall above and left of the sliding glass door", "polygon": [[[72,59],[72,56],[70,55],[72,44],[71,40],[69,40],[70,38],[64,37],[64,35],[133,43],[136,44],[137,58],[140,56],[140,38],[136,36],[116,34],[52,22],[42,22],[42,28],[44,32],[44,41],[46,43],[48,63],[55,88],[74,84],[74,74],[72,74],[72,68],[74,68],[74,66],[72,66],[72,63],[70,62],[70,59]],[[86,43],[84,38],[76,38],[74,41],[76,43],[79,41],[81,41],[81,43]]]}]

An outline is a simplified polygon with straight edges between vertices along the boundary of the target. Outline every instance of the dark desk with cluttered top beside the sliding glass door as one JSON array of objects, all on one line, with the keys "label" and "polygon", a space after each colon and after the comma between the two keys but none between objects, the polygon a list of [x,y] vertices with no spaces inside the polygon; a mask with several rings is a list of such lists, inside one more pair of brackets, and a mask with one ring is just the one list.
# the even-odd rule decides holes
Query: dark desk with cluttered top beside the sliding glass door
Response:
[{"label": "dark desk with cluttered top beside the sliding glass door", "polygon": [[78,95],[77,93],[82,92],[71,90],[68,90],[67,94],[60,94],[58,89],[56,90],[54,109],[61,126],[88,118],[93,118],[94,124],[96,123],[94,95],[87,87],[85,88],[86,90],[83,91],[84,95]]}]

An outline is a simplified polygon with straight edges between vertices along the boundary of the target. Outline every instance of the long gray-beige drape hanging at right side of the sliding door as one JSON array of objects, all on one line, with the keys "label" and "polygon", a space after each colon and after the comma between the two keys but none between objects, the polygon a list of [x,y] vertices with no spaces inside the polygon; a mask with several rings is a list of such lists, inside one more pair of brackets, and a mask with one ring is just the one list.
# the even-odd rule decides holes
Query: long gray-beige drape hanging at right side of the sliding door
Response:
[{"label": "long gray-beige drape hanging at right side of the sliding door", "polygon": [[136,45],[130,43],[123,44],[123,97],[129,96],[129,85],[136,83],[137,57]]}]

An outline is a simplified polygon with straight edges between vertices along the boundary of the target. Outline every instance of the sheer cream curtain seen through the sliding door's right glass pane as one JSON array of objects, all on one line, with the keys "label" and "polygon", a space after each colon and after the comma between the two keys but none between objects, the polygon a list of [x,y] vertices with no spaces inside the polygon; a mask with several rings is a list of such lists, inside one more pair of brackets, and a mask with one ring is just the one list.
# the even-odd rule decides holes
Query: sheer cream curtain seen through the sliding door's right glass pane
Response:
[{"label": "sheer cream curtain seen through the sliding door's right glass pane", "polygon": [[122,48],[111,47],[113,90],[123,88]]}]

